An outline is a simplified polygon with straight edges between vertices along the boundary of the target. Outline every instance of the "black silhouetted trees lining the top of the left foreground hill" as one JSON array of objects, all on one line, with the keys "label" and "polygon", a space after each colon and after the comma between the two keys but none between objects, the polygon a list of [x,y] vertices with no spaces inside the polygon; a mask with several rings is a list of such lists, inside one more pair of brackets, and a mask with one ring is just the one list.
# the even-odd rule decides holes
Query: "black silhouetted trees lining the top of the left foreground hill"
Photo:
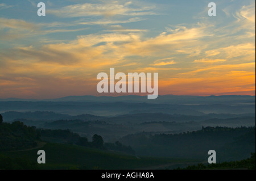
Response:
[{"label": "black silhouetted trees lining the top of the left foreground hill", "polygon": [[[103,138],[94,134],[92,142],[88,138],[81,137],[77,133],[68,130],[51,130],[36,129],[36,127],[27,127],[20,121],[13,123],[2,123],[2,115],[0,115],[0,151],[21,150],[37,146],[37,141],[61,142],[64,144],[87,146],[97,149],[112,149],[134,154],[134,150],[130,146],[123,146],[121,142],[115,144],[107,143],[104,145]],[[108,146],[108,148],[106,148]]]}]

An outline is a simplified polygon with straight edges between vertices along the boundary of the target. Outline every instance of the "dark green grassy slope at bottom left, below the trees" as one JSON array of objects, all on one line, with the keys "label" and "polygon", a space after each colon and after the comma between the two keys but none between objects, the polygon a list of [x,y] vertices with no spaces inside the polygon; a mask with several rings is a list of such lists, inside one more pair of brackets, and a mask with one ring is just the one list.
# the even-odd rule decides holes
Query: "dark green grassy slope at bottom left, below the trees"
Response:
[{"label": "dark green grassy slope at bottom left, below the trees", "polygon": [[[134,155],[55,143],[47,143],[40,149],[46,151],[46,164],[39,165],[40,169],[138,169],[170,163],[195,162],[171,158],[137,158]],[[9,151],[2,154],[12,158],[27,157],[36,162],[38,150]]]}]

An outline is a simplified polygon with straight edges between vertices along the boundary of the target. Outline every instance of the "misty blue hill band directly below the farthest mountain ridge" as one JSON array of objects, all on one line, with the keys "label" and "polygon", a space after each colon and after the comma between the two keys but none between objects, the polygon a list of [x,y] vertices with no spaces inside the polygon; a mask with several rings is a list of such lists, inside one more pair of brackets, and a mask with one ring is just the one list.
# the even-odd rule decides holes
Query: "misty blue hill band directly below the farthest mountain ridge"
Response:
[{"label": "misty blue hill band directly below the farthest mountain ridge", "polygon": [[255,113],[255,103],[160,104],[128,102],[0,102],[0,112],[47,111],[69,115],[115,116],[127,113],[168,113],[202,116],[208,113]]}]

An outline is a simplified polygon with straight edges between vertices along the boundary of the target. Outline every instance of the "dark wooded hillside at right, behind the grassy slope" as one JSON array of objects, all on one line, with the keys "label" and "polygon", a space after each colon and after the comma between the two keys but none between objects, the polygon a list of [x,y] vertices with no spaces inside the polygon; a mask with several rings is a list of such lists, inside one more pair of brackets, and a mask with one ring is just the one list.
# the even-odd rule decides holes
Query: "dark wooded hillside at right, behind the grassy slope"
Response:
[{"label": "dark wooded hillside at right, behind the grassy slope", "polygon": [[206,153],[214,148],[218,160],[229,161],[255,151],[255,127],[206,127],[177,134],[144,132],[124,136],[120,141],[144,156],[207,159]]}]

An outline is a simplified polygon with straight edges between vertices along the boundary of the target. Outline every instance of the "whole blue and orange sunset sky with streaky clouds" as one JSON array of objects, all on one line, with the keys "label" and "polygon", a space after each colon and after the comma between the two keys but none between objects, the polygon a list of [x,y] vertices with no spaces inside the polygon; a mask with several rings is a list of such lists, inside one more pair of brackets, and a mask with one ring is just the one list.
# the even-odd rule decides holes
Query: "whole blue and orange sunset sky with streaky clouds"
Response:
[{"label": "whole blue and orange sunset sky with streaky clouds", "polygon": [[111,96],[110,68],[158,73],[160,95],[255,95],[255,1],[0,1],[0,98]]}]

